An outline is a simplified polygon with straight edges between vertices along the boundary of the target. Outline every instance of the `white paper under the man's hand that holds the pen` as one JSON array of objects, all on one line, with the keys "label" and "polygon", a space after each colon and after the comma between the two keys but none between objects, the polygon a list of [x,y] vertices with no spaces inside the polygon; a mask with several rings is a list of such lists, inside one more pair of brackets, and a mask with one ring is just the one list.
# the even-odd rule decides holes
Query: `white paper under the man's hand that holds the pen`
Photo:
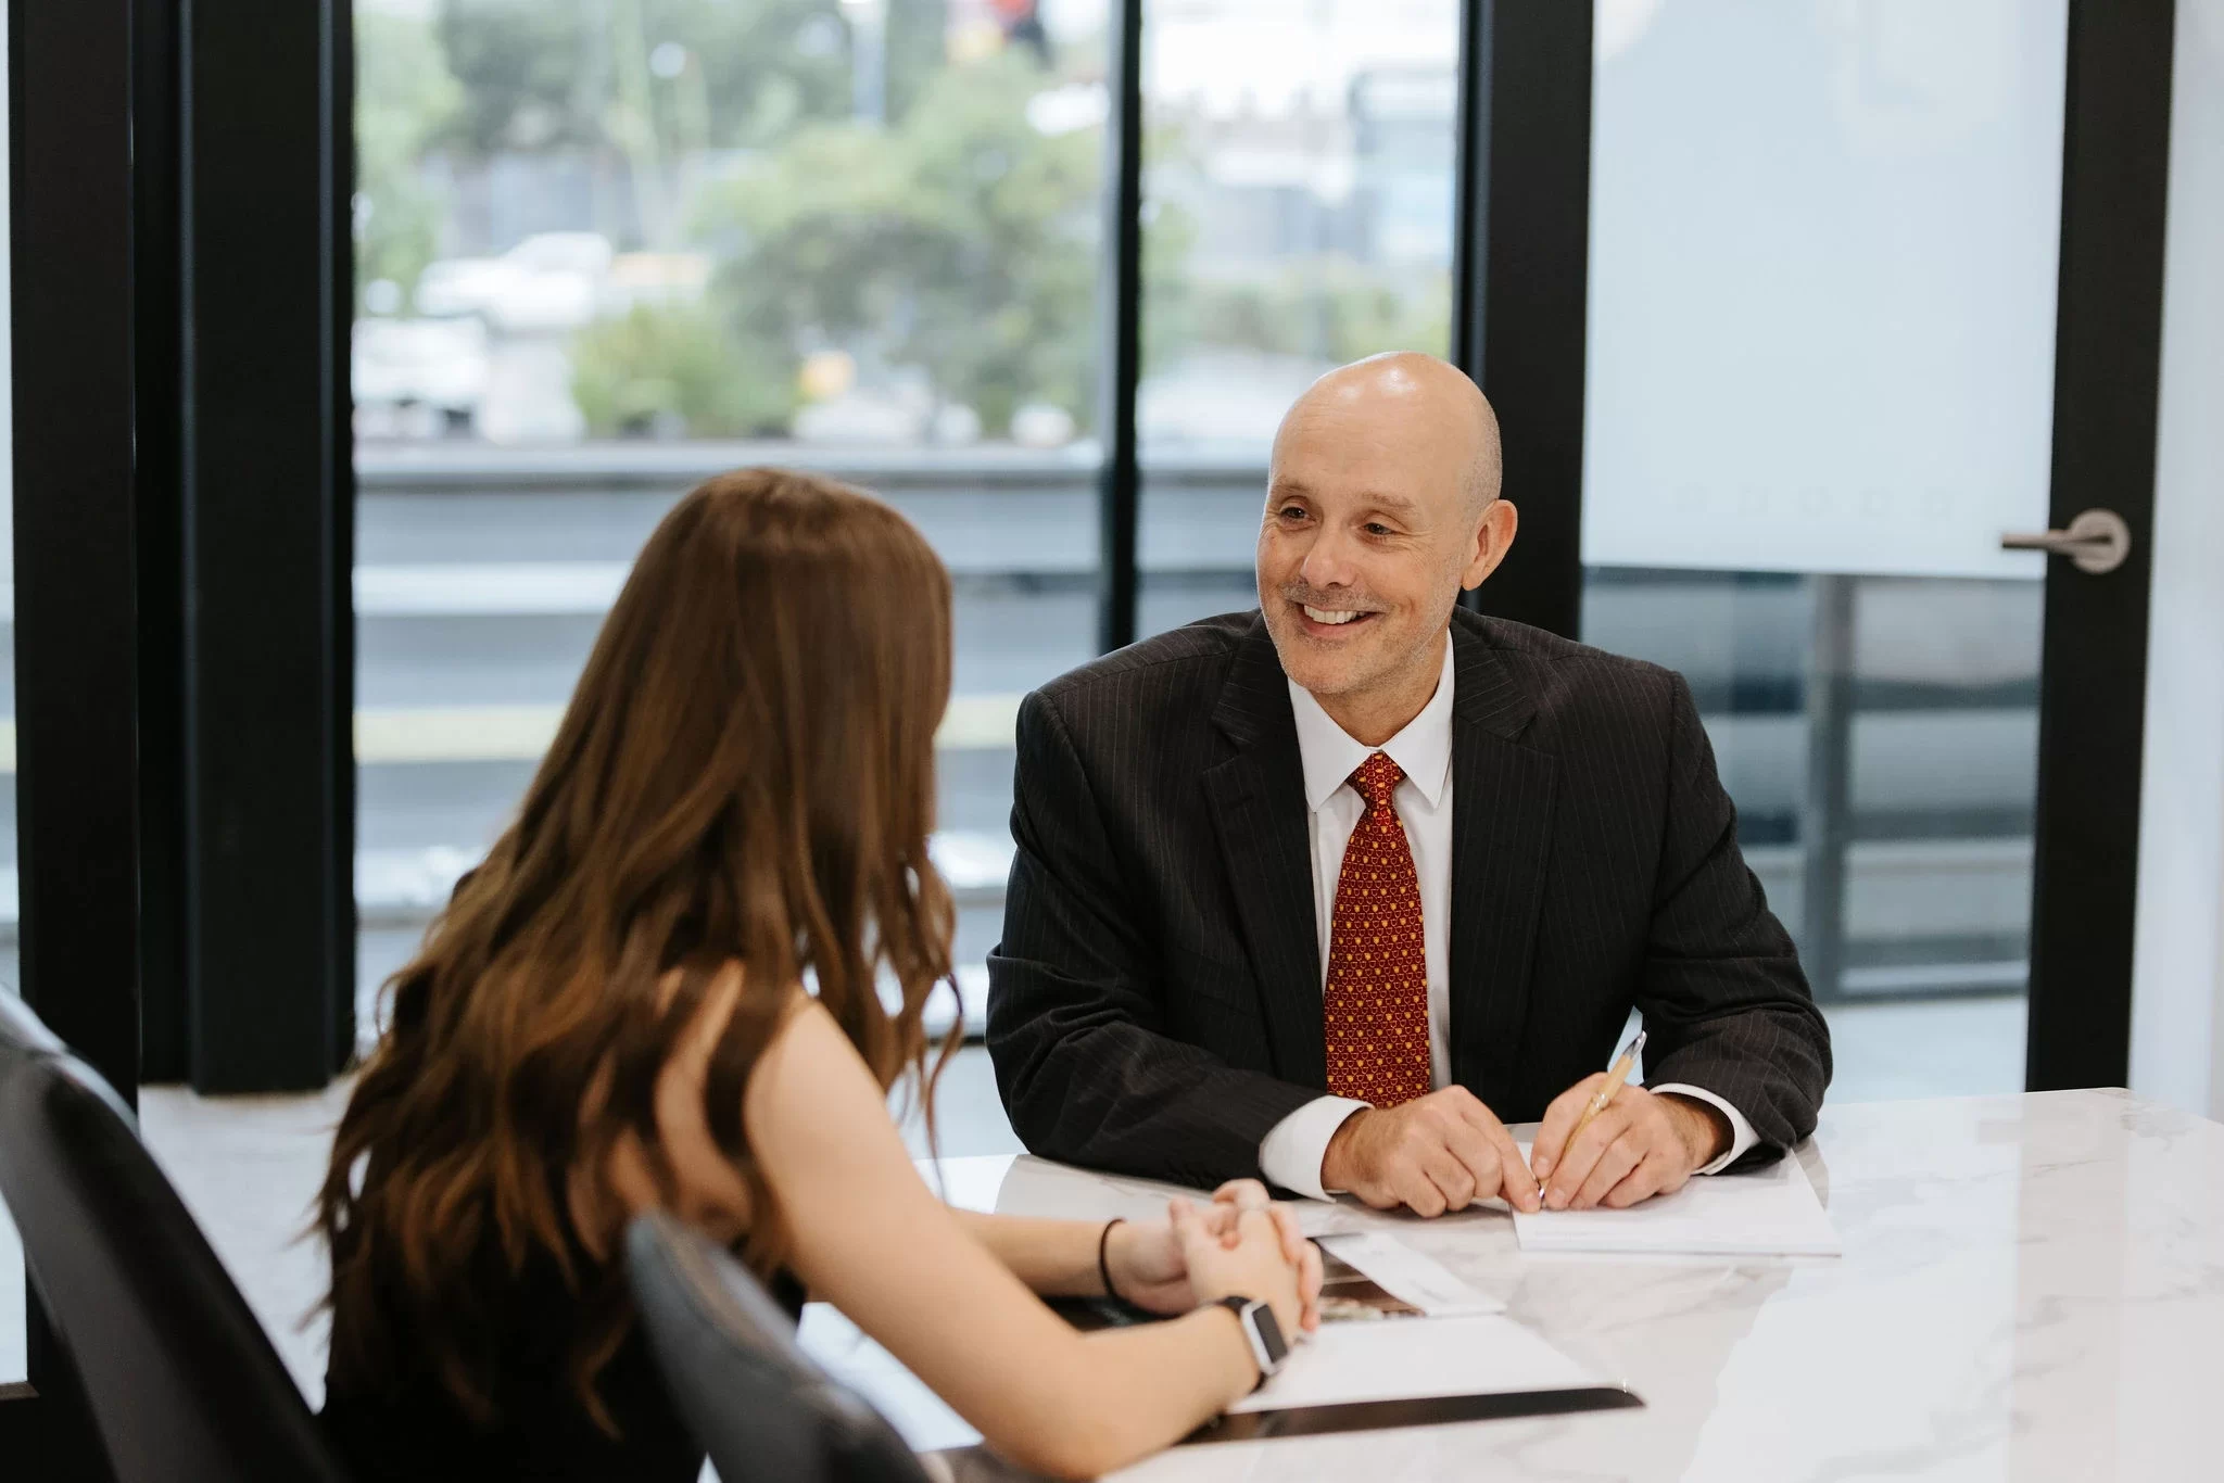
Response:
[{"label": "white paper under the man's hand that holds the pen", "polygon": [[[1521,1147],[1528,1158],[1528,1145]],[[1706,1174],[1628,1210],[1515,1212],[1523,1252],[1630,1256],[1839,1256],[1844,1247],[1799,1158]]]}]

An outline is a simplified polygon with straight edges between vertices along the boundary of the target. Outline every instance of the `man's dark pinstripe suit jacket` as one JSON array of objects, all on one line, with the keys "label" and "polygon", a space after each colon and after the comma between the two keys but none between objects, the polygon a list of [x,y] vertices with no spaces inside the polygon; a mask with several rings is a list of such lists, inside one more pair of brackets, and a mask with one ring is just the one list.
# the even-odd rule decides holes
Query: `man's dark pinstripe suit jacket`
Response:
[{"label": "man's dark pinstripe suit jacket", "polygon": [[[1452,614],[1454,1078],[1530,1121],[1646,1016],[1646,1076],[1784,1147],[1830,1034],[1737,849],[1681,676]],[[1297,723],[1257,611],[1019,707],[987,1045],[1048,1158],[1212,1185],[1328,1085]]]}]

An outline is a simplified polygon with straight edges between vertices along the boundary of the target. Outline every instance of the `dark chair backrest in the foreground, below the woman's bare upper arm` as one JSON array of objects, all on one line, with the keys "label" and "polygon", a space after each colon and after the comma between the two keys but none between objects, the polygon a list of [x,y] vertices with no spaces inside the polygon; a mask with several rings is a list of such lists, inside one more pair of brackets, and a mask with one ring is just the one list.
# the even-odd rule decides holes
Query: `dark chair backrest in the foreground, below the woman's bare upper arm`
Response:
[{"label": "dark chair backrest in the foreground, below the woman's bare upper arm", "polygon": [[625,1270],[672,1403],[723,1483],[927,1483],[892,1425],[796,1347],[732,1252],[667,1214],[625,1232]]}]

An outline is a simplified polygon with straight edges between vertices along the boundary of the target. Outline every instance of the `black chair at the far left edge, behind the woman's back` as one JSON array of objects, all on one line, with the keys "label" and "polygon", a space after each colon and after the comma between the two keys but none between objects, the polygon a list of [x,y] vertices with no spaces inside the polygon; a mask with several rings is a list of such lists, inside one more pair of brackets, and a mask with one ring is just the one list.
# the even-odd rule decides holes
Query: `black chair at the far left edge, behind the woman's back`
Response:
[{"label": "black chair at the far left edge, behind the woman's back", "polygon": [[4,992],[0,1198],[118,1483],[342,1483],[131,1112]]}]

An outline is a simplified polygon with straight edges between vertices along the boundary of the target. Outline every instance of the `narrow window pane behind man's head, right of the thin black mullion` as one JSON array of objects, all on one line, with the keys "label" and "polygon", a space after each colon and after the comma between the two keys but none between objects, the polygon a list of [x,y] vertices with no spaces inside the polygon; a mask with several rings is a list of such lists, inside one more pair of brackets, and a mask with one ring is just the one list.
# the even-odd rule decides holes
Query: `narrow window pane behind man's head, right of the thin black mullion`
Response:
[{"label": "narrow window pane behind man's head, right of the thin black mullion", "polygon": [[1257,605],[1281,414],[1452,342],[1457,0],[1143,2],[1139,631]]}]

